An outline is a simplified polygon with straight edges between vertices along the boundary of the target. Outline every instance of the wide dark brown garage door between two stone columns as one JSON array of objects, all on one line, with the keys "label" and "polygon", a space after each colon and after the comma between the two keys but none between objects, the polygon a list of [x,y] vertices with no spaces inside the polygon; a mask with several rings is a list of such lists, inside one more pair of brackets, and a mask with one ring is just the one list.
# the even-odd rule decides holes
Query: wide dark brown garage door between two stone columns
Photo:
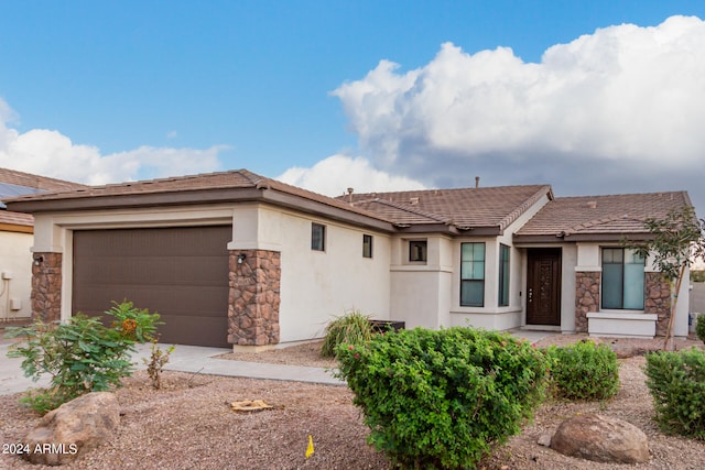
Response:
[{"label": "wide dark brown garage door between two stone columns", "polygon": [[127,298],[158,311],[162,342],[228,347],[230,227],[74,231],[74,313]]}]

